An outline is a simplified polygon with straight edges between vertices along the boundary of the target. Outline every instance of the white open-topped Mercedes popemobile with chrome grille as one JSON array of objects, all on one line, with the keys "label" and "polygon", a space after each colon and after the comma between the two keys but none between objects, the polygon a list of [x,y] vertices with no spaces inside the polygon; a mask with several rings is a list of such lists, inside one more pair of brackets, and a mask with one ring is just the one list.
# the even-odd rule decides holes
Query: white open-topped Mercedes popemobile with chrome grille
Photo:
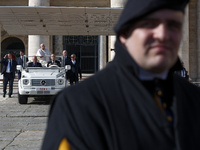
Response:
[{"label": "white open-topped Mercedes popemobile with chrome grille", "polygon": [[[47,56],[49,57],[49,56]],[[29,56],[28,60],[32,57]],[[63,56],[56,57],[60,61],[60,67],[51,65],[47,67],[47,62],[39,60],[42,67],[28,67],[27,57],[24,63],[17,65],[17,70],[21,71],[21,79],[18,81],[18,101],[20,104],[27,104],[28,97],[42,97],[55,95],[67,86],[66,71],[70,70],[70,65],[64,65]]]}]

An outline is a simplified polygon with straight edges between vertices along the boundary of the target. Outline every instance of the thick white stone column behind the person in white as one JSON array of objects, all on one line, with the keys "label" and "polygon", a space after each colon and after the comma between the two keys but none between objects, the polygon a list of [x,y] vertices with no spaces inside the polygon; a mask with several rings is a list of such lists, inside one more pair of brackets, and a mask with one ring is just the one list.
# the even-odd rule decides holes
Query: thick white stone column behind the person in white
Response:
[{"label": "thick white stone column behind the person in white", "polygon": [[[50,0],[29,0],[29,6],[49,6]],[[29,35],[28,36],[28,56],[36,55],[40,44],[44,43],[45,48],[50,48],[50,37],[48,35]],[[52,50],[49,49],[51,52]]]}]

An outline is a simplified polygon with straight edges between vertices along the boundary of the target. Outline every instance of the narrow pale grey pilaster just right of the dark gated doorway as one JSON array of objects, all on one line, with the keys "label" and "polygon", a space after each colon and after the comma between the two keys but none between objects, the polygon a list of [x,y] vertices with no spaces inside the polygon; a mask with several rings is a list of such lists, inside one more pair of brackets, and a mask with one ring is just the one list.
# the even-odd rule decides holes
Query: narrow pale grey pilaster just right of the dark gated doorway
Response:
[{"label": "narrow pale grey pilaster just right of the dark gated doorway", "polygon": [[99,70],[106,66],[106,36],[99,36],[99,47],[98,47],[98,59],[99,59]]}]

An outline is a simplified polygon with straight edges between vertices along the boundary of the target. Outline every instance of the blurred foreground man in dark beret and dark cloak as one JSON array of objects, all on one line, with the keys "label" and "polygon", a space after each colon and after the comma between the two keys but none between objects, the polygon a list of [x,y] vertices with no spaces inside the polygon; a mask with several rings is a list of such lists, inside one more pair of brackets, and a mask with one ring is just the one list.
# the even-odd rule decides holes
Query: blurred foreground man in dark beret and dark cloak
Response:
[{"label": "blurred foreground man in dark beret and dark cloak", "polygon": [[55,97],[43,149],[200,149],[200,88],[174,74],[187,3],[127,2],[114,60]]}]

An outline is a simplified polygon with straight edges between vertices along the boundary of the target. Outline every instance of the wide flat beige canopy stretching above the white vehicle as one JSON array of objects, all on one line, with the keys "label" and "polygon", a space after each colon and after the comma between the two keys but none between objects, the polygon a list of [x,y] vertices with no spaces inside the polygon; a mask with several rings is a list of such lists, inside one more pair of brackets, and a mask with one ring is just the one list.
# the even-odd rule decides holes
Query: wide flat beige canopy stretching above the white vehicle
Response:
[{"label": "wide flat beige canopy stretching above the white vehicle", "polygon": [[9,35],[115,35],[123,8],[0,6]]}]

